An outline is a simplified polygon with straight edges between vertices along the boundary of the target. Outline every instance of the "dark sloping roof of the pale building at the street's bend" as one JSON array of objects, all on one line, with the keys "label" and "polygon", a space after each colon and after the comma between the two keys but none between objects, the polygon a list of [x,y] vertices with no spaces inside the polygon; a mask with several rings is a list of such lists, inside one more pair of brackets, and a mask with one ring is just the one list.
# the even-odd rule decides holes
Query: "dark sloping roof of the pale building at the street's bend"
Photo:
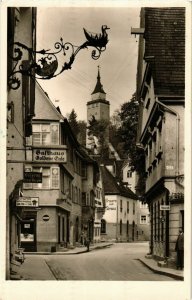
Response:
[{"label": "dark sloping roof of the pale building at the street's bend", "polygon": [[121,195],[134,200],[138,199],[137,195],[128,187],[123,186],[121,181],[117,181],[105,166],[100,166],[100,170],[105,195]]}]

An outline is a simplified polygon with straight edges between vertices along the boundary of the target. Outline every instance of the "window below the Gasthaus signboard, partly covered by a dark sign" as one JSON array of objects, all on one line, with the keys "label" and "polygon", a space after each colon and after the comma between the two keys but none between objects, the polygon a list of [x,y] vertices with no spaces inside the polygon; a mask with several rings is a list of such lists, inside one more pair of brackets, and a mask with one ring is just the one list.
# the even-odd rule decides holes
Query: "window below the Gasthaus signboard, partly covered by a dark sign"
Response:
[{"label": "window below the Gasthaus signboard, partly covered by a dark sign", "polygon": [[25,167],[25,172],[42,173],[42,183],[24,183],[24,189],[58,189],[59,167]]}]

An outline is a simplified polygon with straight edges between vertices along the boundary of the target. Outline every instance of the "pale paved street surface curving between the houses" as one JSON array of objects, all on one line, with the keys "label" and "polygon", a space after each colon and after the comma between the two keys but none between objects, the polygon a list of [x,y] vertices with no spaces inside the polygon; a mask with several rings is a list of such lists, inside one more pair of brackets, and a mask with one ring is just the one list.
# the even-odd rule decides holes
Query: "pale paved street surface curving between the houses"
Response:
[{"label": "pale paved street surface curving between the houses", "polygon": [[147,252],[148,243],[144,242],[96,243],[90,252],[76,247],[26,254],[18,274],[21,280],[183,280],[183,271],[159,267],[153,259],[145,258]]}]

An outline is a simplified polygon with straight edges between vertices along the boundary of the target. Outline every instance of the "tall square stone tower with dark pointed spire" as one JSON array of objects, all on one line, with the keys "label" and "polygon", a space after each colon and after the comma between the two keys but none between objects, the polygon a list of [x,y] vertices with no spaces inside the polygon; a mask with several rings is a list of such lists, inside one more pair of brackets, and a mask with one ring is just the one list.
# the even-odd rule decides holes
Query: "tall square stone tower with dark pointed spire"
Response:
[{"label": "tall square stone tower with dark pointed spire", "polygon": [[[91,94],[91,101],[87,102],[87,124],[89,120],[95,117],[96,120],[110,120],[110,103],[106,100],[106,93],[101,84],[100,70],[98,66],[97,83],[94,91]],[[87,135],[86,146],[91,148],[91,137]],[[106,131],[106,142],[109,141],[109,130]]]}]

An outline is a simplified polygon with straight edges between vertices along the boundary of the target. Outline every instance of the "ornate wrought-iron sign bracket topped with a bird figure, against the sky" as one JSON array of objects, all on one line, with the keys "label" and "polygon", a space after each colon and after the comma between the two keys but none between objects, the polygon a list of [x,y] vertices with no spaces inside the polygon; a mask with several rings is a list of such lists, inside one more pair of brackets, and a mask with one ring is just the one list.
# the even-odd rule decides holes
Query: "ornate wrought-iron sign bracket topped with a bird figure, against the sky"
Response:
[{"label": "ornate wrought-iron sign bracket topped with a bird figure, against the sky", "polygon": [[[19,74],[27,75],[37,79],[48,80],[54,77],[57,77],[63,71],[71,69],[71,66],[75,60],[77,53],[81,49],[85,49],[88,47],[94,47],[92,50],[92,58],[98,59],[103,51],[106,49],[106,45],[108,43],[108,34],[106,30],[109,28],[106,25],[101,27],[100,34],[93,34],[88,32],[86,29],[84,30],[84,34],[86,37],[86,42],[84,42],[81,46],[74,46],[73,44],[63,42],[61,38],[59,42],[55,43],[55,52],[51,52],[49,50],[40,50],[34,51],[32,48],[27,47],[26,45],[15,42],[10,45],[10,49],[13,49],[12,53],[9,54],[10,58],[13,61],[13,69],[11,74],[8,75],[8,86],[11,89],[18,89],[20,87],[20,79],[18,78]],[[27,52],[28,57],[28,66],[24,66],[24,51]],[[59,55],[65,56],[66,61],[60,65]]]}]

